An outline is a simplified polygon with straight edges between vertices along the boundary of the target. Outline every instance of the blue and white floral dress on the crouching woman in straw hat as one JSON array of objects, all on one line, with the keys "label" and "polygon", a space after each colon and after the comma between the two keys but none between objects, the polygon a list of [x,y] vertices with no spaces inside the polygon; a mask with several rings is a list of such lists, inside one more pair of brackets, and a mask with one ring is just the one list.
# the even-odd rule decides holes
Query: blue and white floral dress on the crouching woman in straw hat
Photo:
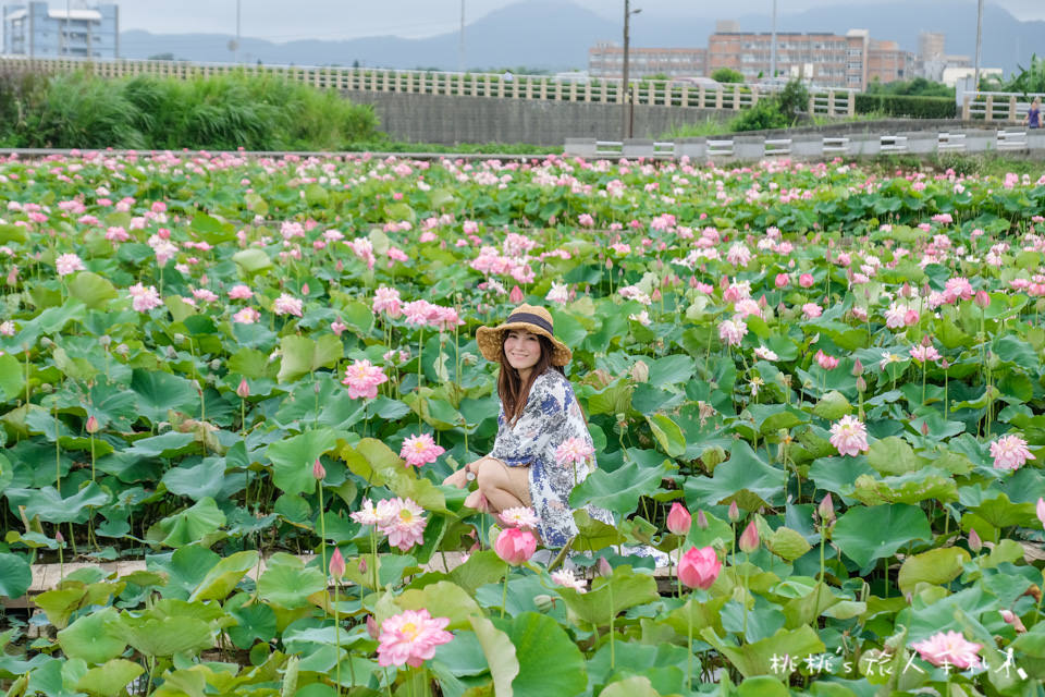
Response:
[{"label": "blue and white floral dress on the crouching woman in straw hat", "polygon": [[[538,533],[545,547],[563,547],[577,535],[569,493],[574,486],[595,470],[594,462],[561,465],[555,450],[570,438],[592,445],[588,424],[574,396],[569,380],[548,369],[533,381],[518,420],[512,425],[497,414],[497,438],[492,457],[509,467],[530,466],[530,500],[540,518]],[[613,514],[593,505],[585,506],[592,518],[613,525]]]}]

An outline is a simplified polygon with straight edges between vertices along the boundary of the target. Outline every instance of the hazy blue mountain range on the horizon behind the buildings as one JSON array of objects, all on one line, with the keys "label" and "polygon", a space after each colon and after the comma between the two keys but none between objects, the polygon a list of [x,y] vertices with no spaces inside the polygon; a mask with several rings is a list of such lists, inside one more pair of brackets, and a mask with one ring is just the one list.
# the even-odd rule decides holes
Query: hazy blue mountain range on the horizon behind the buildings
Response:
[{"label": "hazy blue mountain range on the horizon behind the buildings", "polygon": [[[641,5],[641,0],[634,2]],[[736,20],[742,32],[769,32],[765,15]],[[975,47],[974,0],[908,0],[905,2],[822,7],[782,14],[779,32],[845,34],[864,28],[874,39],[897,41],[915,52],[920,32],[946,35],[946,51],[972,56]],[[983,20],[982,65],[1003,68],[1006,74],[1025,66],[1032,53],[1045,54],[1045,22],[1020,22],[1009,12],[988,4]],[[637,14],[631,20],[635,47],[703,47],[715,30],[714,19]],[[503,70],[526,66],[540,70],[583,70],[588,49],[598,41],[620,42],[622,27],[570,2],[518,2],[468,24],[465,28],[465,66]],[[197,62],[231,62],[234,37],[222,34],[152,34],[122,32],[123,58],[168,54]],[[348,40],[272,42],[244,37],[239,58],[245,62],[296,65],[362,65],[370,68],[456,70],[459,64],[456,32],[427,38],[372,36]]]}]

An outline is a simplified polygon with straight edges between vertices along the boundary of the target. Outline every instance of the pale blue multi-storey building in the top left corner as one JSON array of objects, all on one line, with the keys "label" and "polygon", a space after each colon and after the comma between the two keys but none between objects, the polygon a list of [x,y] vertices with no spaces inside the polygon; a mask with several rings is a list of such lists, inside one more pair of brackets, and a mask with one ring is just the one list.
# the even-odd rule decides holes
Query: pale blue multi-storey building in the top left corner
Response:
[{"label": "pale blue multi-storey building in the top left corner", "polygon": [[119,58],[120,8],[52,10],[47,2],[3,8],[3,52],[39,58]]}]

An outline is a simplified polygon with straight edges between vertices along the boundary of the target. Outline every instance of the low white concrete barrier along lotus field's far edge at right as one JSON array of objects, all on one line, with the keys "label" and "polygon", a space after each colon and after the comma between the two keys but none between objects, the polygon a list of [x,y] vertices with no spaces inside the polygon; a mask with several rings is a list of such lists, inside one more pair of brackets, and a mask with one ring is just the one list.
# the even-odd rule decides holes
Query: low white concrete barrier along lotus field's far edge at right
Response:
[{"label": "low white concrete barrier along lotus field's far edge at right", "polygon": [[932,155],[943,152],[1024,152],[1045,156],[1045,129],[911,132],[896,134],[821,136],[790,138],[764,136],[710,136],[660,143],[643,138],[595,140],[566,138],[565,155],[603,158],[683,158],[691,160],[761,160],[769,157],[823,159],[837,156],[886,154]]}]

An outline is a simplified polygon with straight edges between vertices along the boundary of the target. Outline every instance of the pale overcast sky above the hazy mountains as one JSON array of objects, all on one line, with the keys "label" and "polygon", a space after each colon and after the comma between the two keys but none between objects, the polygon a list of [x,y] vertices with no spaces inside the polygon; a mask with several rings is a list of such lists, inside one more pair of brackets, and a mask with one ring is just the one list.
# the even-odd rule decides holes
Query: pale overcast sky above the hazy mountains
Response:
[{"label": "pale overcast sky above the hazy mountains", "polygon": [[[0,0],[0,3],[11,0]],[[106,0],[99,0],[106,1]],[[466,23],[518,0],[465,0]],[[779,0],[779,12],[797,12],[817,5],[868,4],[875,0]],[[290,41],[307,38],[353,38],[396,35],[404,37],[443,34],[457,28],[462,0],[241,0],[244,36]],[[607,19],[623,14],[622,0],[574,0]],[[1045,0],[993,0],[1020,20],[1045,20]],[[61,7],[62,0],[51,0]],[[73,7],[84,0],[72,0]],[[94,4],[94,1],[90,2]],[[187,32],[235,34],[236,0],[122,0],[122,29],[153,33]],[[672,16],[733,19],[767,14],[772,0],[732,0],[728,14],[709,0],[632,0],[643,12]],[[716,16],[721,15],[721,16]]]}]

